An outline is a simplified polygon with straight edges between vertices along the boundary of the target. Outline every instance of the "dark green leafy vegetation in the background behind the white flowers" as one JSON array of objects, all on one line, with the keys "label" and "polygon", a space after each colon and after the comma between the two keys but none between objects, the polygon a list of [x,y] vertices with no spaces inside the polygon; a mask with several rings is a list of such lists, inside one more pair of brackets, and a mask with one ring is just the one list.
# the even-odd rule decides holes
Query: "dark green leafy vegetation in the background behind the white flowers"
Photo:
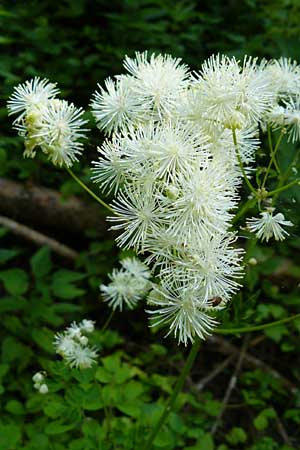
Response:
[{"label": "dark green leafy vegetation in the background behind the white flowers", "polygon": [[[76,194],[91,202],[46,159],[22,159],[23,144],[11,131],[5,107],[17,83],[34,75],[48,77],[58,82],[66,98],[87,108],[97,83],[120,73],[124,55],[136,50],[167,52],[192,68],[216,52],[297,59],[298,3],[2,2],[0,176],[26,186],[50,187],[64,199]],[[92,130],[91,136],[85,168],[80,169],[87,182],[89,162],[100,143],[98,132]],[[263,161],[264,155],[259,157]],[[293,155],[283,146],[279,158],[287,167]],[[299,188],[280,197],[282,209],[295,224],[286,242],[253,246],[245,240],[245,247],[251,246],[248,256],[258,264],[246,266],[245,287],[224,313],[224,327],[261,324],[299,312],[299,202]],[[3,205],[0,214],[8,215]],[[39,228],[38,221],[22,220],[22,214],[12,218]],[[187,351],[172,338],[164,339],[162,331],[149,330],[143,307],[116,313],[109,327],[100,331],[109,311],[101,302],[99,284],[118,259],[110,234],[104,239],[93,228],[79,235],[72,223],[59,232],[45,224],[39,230],[80,255],[76,261],[64,259],[47,246],[37,249],[0,228],[0,449],[141,448]],[[100,358],[95,370],[79,372],[58,361],[52,341],[55,332],[84,317],[96,321],[92,339],[100,345]],[[203,342],[177,412],[170,415],[155,448],[298,448],[299,333],[296,320],[246,337],[217,335]],[[41,396],[33,389],[32,375],[41,369],[52,373],[51,395]],[[235,372],[237,385],[222,411]]]}]

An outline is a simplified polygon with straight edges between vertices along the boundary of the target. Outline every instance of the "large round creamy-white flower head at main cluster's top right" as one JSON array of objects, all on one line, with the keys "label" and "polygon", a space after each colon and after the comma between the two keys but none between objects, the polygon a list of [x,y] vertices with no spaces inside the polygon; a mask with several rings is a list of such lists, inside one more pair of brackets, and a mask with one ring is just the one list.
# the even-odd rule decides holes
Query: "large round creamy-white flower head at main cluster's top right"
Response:
[{"label": "large round creamy-white flower head at main cluster's top right", "polygon": [[225,55],[211,56],[193,81],[203,120],[228,128],[257,123],[274,97],[269,79],[256,65],[256,59],[247,57],[240,64]]}]

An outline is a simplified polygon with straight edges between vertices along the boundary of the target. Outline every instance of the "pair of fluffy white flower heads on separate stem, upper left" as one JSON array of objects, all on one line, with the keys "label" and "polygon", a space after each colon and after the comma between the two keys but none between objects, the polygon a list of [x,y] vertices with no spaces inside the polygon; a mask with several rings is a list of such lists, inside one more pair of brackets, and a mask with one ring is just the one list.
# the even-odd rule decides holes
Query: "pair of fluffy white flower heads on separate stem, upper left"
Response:
[{"label": "pair of fluffy white flower heads on separate stem, upper left", "polygon": [[9,114],[18,114],[14,128],[24,138],[24,156],[34,158],[37,147],[57,166],[70,167],[82,153],[84,111],[56,98],[56,84],[39,77],[15,87],[8,100]]}]

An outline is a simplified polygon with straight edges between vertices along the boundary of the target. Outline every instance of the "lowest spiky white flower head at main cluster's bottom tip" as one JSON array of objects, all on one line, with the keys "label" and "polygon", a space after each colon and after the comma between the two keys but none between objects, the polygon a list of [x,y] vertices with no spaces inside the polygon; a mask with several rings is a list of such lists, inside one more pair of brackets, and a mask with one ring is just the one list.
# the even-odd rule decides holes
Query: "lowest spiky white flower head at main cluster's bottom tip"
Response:
[{"label": "lowest spiky white flower head at main cluster's bottom tip", "polygon": [[157,309],[148,310],[152,315],[152,326],[169,325],[167,336],[174,333],[178,343],[187,345],[194,342],[195,336],[205,339],[216,326],[217,321],[203,309],[202,299],[197,290],[176,286],[155,286],[148,297],[150,306]]}]

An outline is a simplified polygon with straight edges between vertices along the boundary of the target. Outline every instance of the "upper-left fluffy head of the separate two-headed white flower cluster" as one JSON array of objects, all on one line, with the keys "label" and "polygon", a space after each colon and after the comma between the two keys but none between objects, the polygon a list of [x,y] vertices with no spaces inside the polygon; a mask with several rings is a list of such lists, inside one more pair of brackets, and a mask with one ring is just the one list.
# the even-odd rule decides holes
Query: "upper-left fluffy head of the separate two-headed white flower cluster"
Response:
[{"label": "upper-left fluffy head of the separate two-headed white flower cluster", "polygon": [[7,102],[8,114],[20,114],[16,119],[20,121],[29,112],[41,111],[58,93],[56,83],[50,83],[46,78],[35,77],[27,80],[14,88]]}]

